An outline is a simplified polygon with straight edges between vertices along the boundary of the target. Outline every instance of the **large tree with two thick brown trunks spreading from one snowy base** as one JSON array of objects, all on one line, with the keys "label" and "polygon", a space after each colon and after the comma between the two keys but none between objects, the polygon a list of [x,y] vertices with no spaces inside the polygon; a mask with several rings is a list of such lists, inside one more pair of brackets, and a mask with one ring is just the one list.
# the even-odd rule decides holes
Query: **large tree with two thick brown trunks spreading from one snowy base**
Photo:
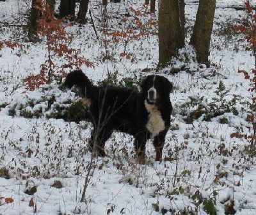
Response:
[{"label": "large tree with two thick brown trunks spreading from one snowy base", "polygon": [[[216,0],[200,0],[189,44],[196,50],[198,63],[209,65],[209,47]],[[159,65],[167,65],[185,45],[184,0],[159,1]]]}]

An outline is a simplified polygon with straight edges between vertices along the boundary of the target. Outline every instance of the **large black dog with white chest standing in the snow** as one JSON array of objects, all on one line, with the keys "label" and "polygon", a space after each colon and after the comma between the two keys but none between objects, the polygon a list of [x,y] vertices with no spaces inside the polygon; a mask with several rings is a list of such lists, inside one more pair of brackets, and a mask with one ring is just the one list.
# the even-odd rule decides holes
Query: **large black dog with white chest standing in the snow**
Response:
[{"label": "large black dog with white chest standing in the snow", "polygon": [[[170,127],[172,83],[162,76],[147,76],[141,92],[127,88],[93,86],[81,70],[70,72],[65,80],[68,88],[77,85],[90,100],[93,131],[90,149],[104,156],[105,142],[114,130],[134,136],[134,147],[140,163],[145,163],[145,145],[152,138],[156,161],[162,157],[164,139]],[[96,143],[96,144],[94,144]]]}]

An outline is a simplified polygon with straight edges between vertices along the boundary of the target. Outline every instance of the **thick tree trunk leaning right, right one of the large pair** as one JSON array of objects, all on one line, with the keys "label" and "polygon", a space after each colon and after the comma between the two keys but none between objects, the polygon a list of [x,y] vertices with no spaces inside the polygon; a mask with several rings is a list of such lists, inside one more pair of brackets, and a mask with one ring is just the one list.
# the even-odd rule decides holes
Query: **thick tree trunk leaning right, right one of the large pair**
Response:
[{"label": "thick tree trunk leaning right, right one of the large pair", "polygon": [[216,0],[199,1],[195,26],[189,42],[195,47],[198,63],[205,63],[207,66],[215,6]]}]

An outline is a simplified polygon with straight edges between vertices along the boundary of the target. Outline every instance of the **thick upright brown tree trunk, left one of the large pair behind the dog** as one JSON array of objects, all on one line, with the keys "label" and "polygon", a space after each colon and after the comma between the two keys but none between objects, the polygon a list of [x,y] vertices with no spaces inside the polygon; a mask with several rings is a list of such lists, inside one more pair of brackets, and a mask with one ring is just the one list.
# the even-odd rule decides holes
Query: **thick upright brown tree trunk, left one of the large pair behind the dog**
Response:
[{"label": "thick upright brown tree trunk, left one of the large pair behind the dog", "polygon": [[172,57],[176,56],[178,49],[185,44],[182,29],[184,23],[181,23],[184,19],[184,10],[181,10],[177,0],[161,0],[158,18],[159,66],[166,66]]}]

